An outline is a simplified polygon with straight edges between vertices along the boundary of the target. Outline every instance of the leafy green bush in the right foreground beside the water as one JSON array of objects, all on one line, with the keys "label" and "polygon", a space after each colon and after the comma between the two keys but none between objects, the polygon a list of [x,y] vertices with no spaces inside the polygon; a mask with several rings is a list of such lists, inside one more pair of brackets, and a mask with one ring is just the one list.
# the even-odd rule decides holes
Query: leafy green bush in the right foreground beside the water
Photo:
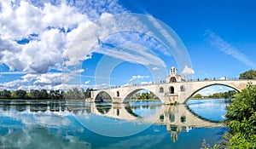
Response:
[{"label": "leafy green bush in the right foreground beside the water", "polygon": [[249,85],[227,106],[230,148],[256,148],[256,86]]}]

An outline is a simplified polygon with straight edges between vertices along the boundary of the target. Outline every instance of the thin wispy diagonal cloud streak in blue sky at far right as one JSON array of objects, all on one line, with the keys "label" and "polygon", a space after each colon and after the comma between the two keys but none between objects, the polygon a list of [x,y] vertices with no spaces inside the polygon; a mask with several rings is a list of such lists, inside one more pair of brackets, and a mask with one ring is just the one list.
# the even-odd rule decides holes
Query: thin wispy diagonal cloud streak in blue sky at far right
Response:
[{"label": "thin wispy diagonal cloud streak in blue sky at far right", "polygon": [[253,62],[253,60],[247,58],[245,54],[242,54],[238,49],[230,45],[230,43],[224,41],[224,39],[219,37],[215,32],[207,30],[205,32],[205,36],[207,36],[207,43],[210,43],[213,48],[219,49],[221,52],[224,52],[224,54],[232,56],[247,66],[256,68],[256,64]]}]

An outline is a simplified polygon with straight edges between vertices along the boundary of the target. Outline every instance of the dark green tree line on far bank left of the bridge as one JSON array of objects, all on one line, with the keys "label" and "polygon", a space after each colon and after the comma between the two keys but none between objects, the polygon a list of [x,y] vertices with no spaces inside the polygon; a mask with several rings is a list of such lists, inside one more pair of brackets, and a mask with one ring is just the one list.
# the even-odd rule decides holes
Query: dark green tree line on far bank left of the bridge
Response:
[{"label": "dark green tree line on far bank left of the bridge", "polygon": [[63,90],[49,90],[46,89],[31,89],[26,91],[23,89],[0,91],[1,99],[19,99],[19,100],[84,100],[90,98],[90,91],[93,89],[69,89]]}]

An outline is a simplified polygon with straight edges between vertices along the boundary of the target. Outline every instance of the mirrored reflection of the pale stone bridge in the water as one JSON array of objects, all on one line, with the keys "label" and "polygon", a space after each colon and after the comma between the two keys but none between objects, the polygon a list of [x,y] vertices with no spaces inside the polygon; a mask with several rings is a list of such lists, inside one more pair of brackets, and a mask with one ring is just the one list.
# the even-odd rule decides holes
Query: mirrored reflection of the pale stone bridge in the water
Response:
[{"label": "mirrored reflection of the pale stone bridge in the water", "polygon": [[[177,141],[178,134],[184,131],[188,132],[193,128],[224,127],[222,123],[195,115],[186,105],[93,103],[87,108],[90,108],[90,113],[97,116],[126,120],[126,122],[131,123],[148,123],[166,126],[166,130],[170,133],[173,142]],[[136,112],[137,109],[141,109],[143,112],[138,114]]]}]

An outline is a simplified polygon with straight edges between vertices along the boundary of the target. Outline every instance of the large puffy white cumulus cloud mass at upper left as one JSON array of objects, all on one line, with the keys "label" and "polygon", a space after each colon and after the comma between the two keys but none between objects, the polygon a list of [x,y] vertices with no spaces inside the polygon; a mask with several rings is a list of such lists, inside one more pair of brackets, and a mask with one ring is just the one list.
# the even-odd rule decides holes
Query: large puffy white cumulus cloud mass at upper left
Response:
[{"label": "large puffy white cumulus cloud mass at upper left", "polygon": [[[12,5],[1,1],[0,43],[1,63],[11,70],[45,73],[60,68],[67,47],[68,29],[89,21],[86,14],[65,4],[44,4],[38,8],[26,1]],[[20,41],[26,43],[19,44]]]}]

